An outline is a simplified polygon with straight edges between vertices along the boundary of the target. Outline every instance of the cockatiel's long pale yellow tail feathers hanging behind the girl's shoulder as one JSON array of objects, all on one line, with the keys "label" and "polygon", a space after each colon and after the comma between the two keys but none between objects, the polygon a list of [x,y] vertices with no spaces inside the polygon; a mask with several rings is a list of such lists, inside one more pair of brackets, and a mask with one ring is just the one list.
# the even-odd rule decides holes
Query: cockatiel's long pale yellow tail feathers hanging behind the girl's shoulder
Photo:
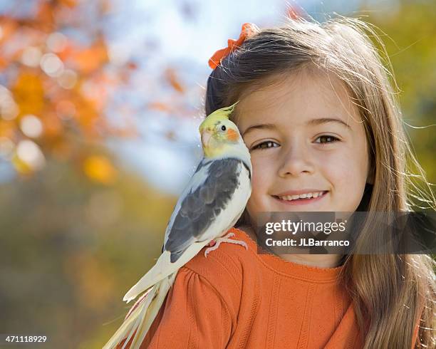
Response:
[{"label": "cockatiel's long pale yellow tail feathers hanging behind the girl's shoulder", "polygon": [[175,281],[176,275],[177,271],[156,283],[155,286],[147,292],[145,299],[140,301],[138,306],[131,311],[123,325],[118,328],[103,349],[116,348],[118,343],[125,339],[123,345],[124,349],[132,337],[133,341],[130,345],[130,349],[140,348],[142,340],[144,340],[145,335],[147,335],[170,287]]}]

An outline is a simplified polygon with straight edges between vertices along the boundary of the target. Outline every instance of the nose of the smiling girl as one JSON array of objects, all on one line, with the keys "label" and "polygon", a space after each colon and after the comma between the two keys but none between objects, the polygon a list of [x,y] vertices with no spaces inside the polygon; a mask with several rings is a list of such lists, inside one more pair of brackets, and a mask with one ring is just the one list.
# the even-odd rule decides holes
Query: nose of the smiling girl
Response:
[{"label": "nose of the smiling girl", "polygon": [[279,176],[298,176],[302,173],[313,173],[314,167],[311,155],[303,147],[289,147],[281,158]]}]

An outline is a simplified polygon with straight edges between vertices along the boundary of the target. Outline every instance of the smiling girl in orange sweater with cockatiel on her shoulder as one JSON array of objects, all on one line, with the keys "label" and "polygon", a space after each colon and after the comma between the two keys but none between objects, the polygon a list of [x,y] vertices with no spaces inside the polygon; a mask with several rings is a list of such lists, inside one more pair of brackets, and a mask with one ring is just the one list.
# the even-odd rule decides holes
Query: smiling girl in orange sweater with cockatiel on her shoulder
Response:
[{"label": "smiling girl in orange sweater with cockatiel on her shoulder", "polygon": [[[356,19],[245,24],[211,58],[206,115],[239,100],[251,154],[231,229],[249,249],[222,244],[182,267],[141,348],[435,348],[430,256],[257,253],[260,212],[410,210],[406,160],[422,170],[365,31]],[[382,233],[370,228],[363,237]]]}]

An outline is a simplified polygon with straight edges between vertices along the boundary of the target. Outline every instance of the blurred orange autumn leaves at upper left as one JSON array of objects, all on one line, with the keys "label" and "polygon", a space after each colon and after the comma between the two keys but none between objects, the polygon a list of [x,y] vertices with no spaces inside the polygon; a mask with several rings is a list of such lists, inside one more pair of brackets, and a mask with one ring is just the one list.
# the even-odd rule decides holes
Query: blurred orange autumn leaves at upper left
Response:
[{"label": "blurred orange autumn leaves at upper left", "polygon": [[[128,81],[135,64],[109,64],[103,32],[83,21],[85,9],[77,1],[28,2],[28,16],[0,17],[0,151],[21,174],[54,157],[108,182],[115,172],[109,160],[88,157],[81,141],[137,135],[128,114],[121,127],[105,115],[108,98]],[[96,4],[99,19],[110,3]],[[81,33],[85,43],[75,39]]]}]

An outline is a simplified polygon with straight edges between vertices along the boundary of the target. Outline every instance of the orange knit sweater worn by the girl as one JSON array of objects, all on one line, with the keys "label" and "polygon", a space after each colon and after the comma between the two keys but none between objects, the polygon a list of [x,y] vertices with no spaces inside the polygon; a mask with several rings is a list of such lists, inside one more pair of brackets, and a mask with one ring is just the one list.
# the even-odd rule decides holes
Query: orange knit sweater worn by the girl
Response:
[{"label": "orange knit sweater worn by the girl", "polygon": [[336,281],[342,266],[258,254],[245,231],[229,231],[248,251],[223,243],[185,264],[141,348],[362,347],[353,304]]}]

